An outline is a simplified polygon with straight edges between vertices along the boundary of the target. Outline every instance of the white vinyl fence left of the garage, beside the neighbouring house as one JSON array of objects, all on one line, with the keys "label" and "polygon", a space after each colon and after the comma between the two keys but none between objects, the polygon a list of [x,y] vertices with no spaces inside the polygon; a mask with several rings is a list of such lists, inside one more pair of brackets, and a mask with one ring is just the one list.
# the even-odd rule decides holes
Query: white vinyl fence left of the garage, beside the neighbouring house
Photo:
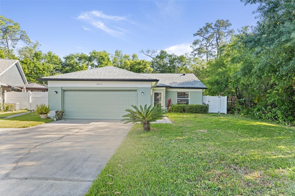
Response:
[{"label": "white vinyl fence left of the garage, beside the neighbouring house", "polygon": [[34,109],[37,104],[48,104],[48,92],[4,92],[5,103],[19,103],[19,109]]}]

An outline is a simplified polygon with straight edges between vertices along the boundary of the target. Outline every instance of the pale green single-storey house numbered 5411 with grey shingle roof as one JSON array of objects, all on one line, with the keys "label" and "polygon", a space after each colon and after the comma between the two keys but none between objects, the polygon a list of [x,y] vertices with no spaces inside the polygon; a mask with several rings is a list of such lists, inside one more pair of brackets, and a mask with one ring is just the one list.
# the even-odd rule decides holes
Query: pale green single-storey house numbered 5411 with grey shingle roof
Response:
[{"label": "pale green single-storey house numbered 5411 with grey shingle roof", "polygon": [[131,105],[202,104],[207,87],[194,74],[137,74],[113,66],[42,77],[51,110],[67,119],[122,119]]}]

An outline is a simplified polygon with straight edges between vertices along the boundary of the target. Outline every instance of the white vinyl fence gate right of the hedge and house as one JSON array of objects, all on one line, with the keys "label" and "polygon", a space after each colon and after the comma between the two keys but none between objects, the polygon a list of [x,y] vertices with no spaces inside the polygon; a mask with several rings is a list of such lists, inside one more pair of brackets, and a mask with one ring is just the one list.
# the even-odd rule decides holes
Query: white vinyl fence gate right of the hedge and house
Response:
[{"label": "white vinyl fence gate right of the hedge and house", "polygon": [[209,113],[227,112],[227,96],[203,96],[203,102],[209,104]]}]

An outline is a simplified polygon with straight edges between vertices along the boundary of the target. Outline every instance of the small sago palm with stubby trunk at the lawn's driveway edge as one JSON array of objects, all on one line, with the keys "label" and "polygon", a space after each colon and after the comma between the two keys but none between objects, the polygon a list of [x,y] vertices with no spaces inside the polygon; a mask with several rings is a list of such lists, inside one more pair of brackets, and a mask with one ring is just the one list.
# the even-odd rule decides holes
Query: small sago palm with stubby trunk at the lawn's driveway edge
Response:
[{"label": "small sago palm with stubby trunk at the lawn's driveway edge", "polygon": [[126,112],[129,112],[128,114],[125,114],[122,117],[128,117],[124,118],[121,121],[126,121],[124,124],[128,122],[141,122],[143,126],[144,131],[150,131],[150,122],[163,119],[165,110],[161,107],[155,105],[152,108],[152,105],[147,107],[147,104],[145,104],[144,108],[140,105],[140,109],[136,107],[135,105],[131,105],[135,110],[132,109],[125,109]]}]

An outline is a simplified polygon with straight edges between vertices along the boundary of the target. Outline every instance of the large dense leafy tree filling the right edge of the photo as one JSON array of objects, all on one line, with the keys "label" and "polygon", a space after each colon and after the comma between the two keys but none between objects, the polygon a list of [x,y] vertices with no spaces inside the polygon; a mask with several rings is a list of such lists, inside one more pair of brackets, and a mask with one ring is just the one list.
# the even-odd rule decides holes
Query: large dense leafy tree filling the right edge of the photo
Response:
[{"label": "large dense leafy tree filling the right edge of the photo", "polygon": [[[258,106],[268,110],[264,116],[295,124],[295,1],[242,2],[258,4],[257,25],[243,40],[255,59],[249,73],[263,96]],[[241,68],[242,72],[248,70],[247,66]]]}]

